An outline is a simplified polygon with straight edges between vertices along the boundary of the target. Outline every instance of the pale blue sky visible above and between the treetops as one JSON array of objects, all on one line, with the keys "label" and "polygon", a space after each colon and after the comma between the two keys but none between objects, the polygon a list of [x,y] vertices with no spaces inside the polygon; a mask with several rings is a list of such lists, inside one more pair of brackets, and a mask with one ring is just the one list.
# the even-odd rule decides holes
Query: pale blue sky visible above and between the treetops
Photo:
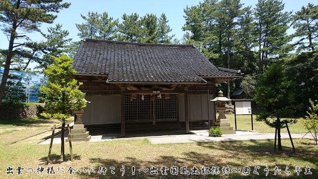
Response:
[{"label": "pale blue sky visible above and between the treetops", "polygon": [[[107,12],[109,16],[114,19],[119,19],[124,13],[131,14],[137,12],[139,16],[144,16],[146,13],[154,13],[159,17],[161,13],[165,13],[169,20],[168,25],[172,29],[170,34],[175,34],[175,37],[181,39],[184,31],[181,27],[184,25],[184,12],[186,6],[193,6],[199,4],[203,0],[64,0],[71,2],[68,9],[63,9],[58,13],[58,17],[53,24],[42,24],[41,30],[47,32],[47,28],[55,26],[56,23],[62,24],[62,28],[70,32],[69,38],[73,41],[79,41],[77,36],[79,33],[76,28],[76,23],[83,23],[80,14],[87,15],[88,11],[93,12]],[[285,11],[298,11],[302,6],[306,6],[309,2],[317,4],[314,0],[283,0],[285,3]],[[243,6],[257,3],[257,0],[241,0]],[[292,31],[290,31],[292,33]],[[32,41],[44,40],[39,33],[28,34]],[[6,49],[8,47],[8,40],[3,33],[0,33],[0,48]]]}]

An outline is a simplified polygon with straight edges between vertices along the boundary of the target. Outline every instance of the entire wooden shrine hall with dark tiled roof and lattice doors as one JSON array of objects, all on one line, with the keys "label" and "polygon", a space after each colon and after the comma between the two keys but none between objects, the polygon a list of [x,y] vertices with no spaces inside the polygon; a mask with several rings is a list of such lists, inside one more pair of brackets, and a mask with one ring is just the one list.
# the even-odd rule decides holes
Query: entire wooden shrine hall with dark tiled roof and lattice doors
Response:
[{"label": "entire wooden shrine hall with dark tiled roof and lattice doors", "polygon": [[[90,132],[207,128],[215,122],[215,84],[241,78],[216,68],[193,45],[84,39],[73,76],[90,101],[82,116]],[[208,95],[209,93],[209,95]],[[209,106],[209,108],[208,108]]]}]

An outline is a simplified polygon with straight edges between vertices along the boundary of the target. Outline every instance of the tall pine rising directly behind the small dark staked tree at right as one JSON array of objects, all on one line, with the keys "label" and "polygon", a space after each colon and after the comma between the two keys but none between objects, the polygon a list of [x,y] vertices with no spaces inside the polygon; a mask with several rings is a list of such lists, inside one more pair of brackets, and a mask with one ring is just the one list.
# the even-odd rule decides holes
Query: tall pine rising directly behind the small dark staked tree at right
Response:
[{"label": "tall pine rising directly behind the small dark staked tree at right", "polygon": [[286,31],[291,12],[282,12],[283,9],[281,0],[258,0],[254,8],[255,29],[258,34],[258,74],[267,69],[268,57],[290,50],[287,43],[291,39]]}]

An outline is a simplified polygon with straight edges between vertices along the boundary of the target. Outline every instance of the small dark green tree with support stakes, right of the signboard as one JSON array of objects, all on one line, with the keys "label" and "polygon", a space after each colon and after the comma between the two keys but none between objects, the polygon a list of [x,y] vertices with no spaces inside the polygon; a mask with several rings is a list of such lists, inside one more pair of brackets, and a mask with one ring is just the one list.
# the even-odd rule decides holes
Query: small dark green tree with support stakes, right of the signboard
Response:
[{"label": "small dark green tree with support stakes, right of the signboard", "polygon": [[[257,115],[257,121],[264,121],[277,130],[278,150],[282,150],[280,129],[286,123],[295,123],[297,119],[288,119],[293,113],[294,84],[289,81],[282,66],[273,64],[259,76],[259,86],[255,89],[253,100],[264,110]],[[285,118],[285,119],[283,119]]]}]

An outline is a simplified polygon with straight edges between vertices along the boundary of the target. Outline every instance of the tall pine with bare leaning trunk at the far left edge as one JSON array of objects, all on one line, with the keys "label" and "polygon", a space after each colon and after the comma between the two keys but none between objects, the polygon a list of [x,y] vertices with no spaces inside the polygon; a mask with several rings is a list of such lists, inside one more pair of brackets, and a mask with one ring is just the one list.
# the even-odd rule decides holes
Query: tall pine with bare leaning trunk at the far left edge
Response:
[{"label": "tall pine with bare leaning trunk at the far left edge", "polygon": [[[11,59],[21,52],[18,47],[23,47],[27,36],[24,32],[40,31],[41,23],[52,23],[57,17],[52,13],[60,9],[68,8],[70,3],[61,3],[62,0],[1,0],[0,1],[0,22],[1,29],[9,39],[7,50],[1,50],[6,56],[4,72],[0,85],[0,105],[2,102]],[[17,43],[16,40],[19,40]],[[25,51],[26,52],[26,51]],[[21,55],[24,55],[21,53]],[[28,53],[28,55],[30,55]]]}]

